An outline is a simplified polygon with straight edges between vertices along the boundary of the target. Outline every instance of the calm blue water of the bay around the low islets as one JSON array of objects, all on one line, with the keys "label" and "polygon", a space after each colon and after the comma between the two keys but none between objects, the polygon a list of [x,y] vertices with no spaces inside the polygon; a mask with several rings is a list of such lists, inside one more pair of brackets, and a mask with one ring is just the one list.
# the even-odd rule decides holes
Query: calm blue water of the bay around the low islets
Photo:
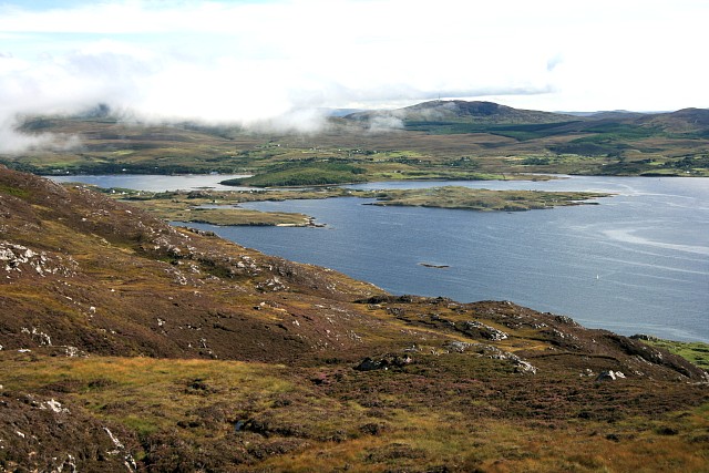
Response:
[{"label": "calm blue water of the bay around the low islets", "polygon": [[442,185],[618,195],[599,199],[600,205],[523,213],[376,207],[359,198],[264,202],[245,206],[308,214],[327,227],[191,225],[266,254],[338,269],[393,294],[512,300],[571,316],[587,327],[709,342],[709,178],[572,177],[352,187]]}]

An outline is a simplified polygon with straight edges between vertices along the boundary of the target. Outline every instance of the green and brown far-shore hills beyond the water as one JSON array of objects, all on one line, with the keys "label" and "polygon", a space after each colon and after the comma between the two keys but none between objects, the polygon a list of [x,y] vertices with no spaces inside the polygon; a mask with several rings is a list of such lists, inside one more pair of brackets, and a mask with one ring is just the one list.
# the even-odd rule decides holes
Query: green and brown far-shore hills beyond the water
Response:
[{"label": "green and brown far-shore hills beyond the water", "polygon": [[320,128],[307,134],[133,123],[110,113],[37,116],[18,132],[53,136],[55,143],[0,155],[0,164],[37,174],[254,174],[256,185],[526,178],[530,173],[709,176],[708,114],[687,109],[578,116],[432,101],[323,117]]}]

